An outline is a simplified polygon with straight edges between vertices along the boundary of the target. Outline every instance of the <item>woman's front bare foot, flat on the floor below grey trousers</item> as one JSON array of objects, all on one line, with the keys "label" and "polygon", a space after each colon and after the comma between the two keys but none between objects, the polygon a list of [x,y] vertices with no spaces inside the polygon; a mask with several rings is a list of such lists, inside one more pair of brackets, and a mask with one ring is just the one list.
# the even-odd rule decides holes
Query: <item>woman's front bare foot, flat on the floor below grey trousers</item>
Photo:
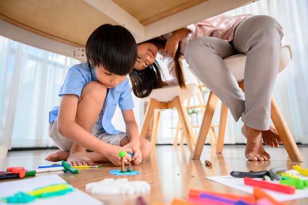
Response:
[{"label": "woman's front bare foot, flat on the floor below grey trousers", "polygon": [[245,156],[249,161],[268,161],[271,158],[264,150],[261,131],[243,125],[242,133],[247,139]]}]

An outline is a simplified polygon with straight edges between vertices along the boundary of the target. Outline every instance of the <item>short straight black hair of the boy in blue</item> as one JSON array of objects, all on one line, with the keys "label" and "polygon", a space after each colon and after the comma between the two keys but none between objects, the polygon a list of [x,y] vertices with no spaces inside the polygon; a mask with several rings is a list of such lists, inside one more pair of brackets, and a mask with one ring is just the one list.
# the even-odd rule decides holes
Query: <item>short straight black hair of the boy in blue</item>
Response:
[{"label": "short straight black hair of the boy in blue", "polygon": [[86,43],[89,67],[103,66],[116,75],[127,75],[137,60],[137,44],[122,26],[104,24],[93,31]]}]

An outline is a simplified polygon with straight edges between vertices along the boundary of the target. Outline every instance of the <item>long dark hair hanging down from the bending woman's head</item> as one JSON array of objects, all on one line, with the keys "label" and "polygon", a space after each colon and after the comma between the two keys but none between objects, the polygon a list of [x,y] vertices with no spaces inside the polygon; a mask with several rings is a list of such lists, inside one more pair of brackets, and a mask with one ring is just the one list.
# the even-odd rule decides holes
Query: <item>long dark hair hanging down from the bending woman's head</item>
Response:
[{"label": "long dark hair hanging down from the bending woman's head", "polygon": [[[143,43],[150,42],[157,46],[158,50],[163,49],[166,44],[166,40],[157,37]],[[181,88],[186,88],[185,78],[182,69],[182,63],[180,59],[183,56],[180,52],[180,46],[175,55],[174,68],[176,77]],[[143,70],[133,69],[129,73],[129,78],[132,83],[132,89],[136,97],[145,98],[150,95],[153,89],[162,87],[162,71],[157,61]]]}]

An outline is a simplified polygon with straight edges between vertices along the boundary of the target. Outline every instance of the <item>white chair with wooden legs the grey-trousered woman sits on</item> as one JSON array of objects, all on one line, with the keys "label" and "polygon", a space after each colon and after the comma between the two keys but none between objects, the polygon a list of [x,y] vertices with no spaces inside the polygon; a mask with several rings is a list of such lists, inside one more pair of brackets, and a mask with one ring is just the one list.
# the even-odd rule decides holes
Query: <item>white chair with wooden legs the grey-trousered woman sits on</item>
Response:
[{"label": "white chair with wooden legs the grey-trousered woman sits on", "polygon": [[[292,59],[291,47],[289,45],[281,46],[278,72],[286,68],[291,59]],[[239,86],[244,90],[243,79],[244,79],[246,55],[238,54],[230,56],[228,58],[225,58],[224,62],[226,63],[227,67],[231,70],[235,78],[238,80]],[[199,135],[197,137],[196,146],[192,154],[192,159],[200,159],[204,143],[207,137],[205,133],[207,134],[210,129],[217,101],[218,97],[214,93],[210,92],[210,96],[201,123]],[[223,148],[223,139],[225,133],[226,120],[227,120],[227,112],[228,108],[223,103],[221,103],[220,122],[219,122],[217,147],[216,147],[217,153],[221,153]],[[292,162],[303,162],[303,157],[294,141],[292,134],[289,131],[287,124],[284,121],[284,118],[282,116],[282,113],[280,112],[280,109],[277,105],[274,96],[272,97],[271,118],[277,129],[278,135],[282,140],[284,148],[286,149],[289,155],[290,160]]]}]

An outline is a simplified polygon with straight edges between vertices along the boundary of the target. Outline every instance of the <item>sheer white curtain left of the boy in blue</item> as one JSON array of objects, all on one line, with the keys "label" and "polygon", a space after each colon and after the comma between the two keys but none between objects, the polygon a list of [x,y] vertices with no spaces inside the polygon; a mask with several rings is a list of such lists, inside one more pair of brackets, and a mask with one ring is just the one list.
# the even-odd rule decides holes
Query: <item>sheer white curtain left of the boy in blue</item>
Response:
[{"label": "sheer white curtain left of the boy in blue", "polygon": [[67,69],[77,60],[0,36],[0,144],[54,146],[48,111],[59,104]]}]

